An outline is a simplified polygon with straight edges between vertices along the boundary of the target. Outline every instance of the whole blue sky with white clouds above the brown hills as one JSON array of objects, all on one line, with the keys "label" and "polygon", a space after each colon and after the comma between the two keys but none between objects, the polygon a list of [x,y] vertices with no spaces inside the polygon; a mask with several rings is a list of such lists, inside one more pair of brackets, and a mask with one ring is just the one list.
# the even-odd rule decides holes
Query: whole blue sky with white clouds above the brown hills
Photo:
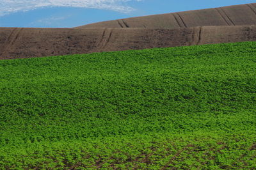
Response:
[{"label": "whole blue sky with white clouds above the brown hills", "polygon": [[104,20],[200,10],[252,0],[0,0],[0,27],[75,27]]}]

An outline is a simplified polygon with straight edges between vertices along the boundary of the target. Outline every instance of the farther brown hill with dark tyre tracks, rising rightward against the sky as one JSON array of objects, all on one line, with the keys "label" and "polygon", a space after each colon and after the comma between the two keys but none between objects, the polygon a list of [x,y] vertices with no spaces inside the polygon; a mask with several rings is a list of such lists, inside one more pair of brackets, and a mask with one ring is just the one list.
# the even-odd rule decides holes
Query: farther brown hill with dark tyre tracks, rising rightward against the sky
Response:
[{"label": "farther brown hill with dark tyre tracks, rising rightward against the sky", "polygon": [[129,19],[109,20],[88,24],[86,27],[150,27],[168,28],[196,26],[243,26],[256,24],[256,3],[225,6],[205,10],[166,13],[133,17]]}]

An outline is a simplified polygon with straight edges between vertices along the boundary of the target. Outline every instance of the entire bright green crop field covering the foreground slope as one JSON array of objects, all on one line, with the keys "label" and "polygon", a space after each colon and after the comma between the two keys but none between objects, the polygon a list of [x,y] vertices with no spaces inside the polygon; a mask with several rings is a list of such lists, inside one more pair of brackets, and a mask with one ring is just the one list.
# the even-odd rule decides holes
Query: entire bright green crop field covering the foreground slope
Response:
[{"label": "entire bright green crop field covering the foreground slope", "polygon": [[0,61],[0,169],[255,169],[256,42]]}]

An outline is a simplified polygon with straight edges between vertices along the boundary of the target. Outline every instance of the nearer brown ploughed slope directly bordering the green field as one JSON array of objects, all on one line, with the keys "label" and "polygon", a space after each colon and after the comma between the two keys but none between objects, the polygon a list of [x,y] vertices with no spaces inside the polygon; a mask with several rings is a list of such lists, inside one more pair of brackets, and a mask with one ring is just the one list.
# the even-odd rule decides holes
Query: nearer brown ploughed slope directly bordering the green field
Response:
[{"label": "nearer brown ploughed slope directly bordering the green field", "polygon": [[256,26],[0,29],[0,59],[256,41]]}]

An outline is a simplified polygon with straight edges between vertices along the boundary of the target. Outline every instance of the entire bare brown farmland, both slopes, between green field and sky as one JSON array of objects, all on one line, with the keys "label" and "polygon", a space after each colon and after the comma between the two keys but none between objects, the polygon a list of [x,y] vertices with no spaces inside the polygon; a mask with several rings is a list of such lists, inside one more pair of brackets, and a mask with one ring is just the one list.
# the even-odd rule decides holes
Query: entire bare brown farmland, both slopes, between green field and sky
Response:
[{"label": "entire bare brown farmland, both slopes, between green field and sky", "polygon": [[256,41],[256,4],[152,15],[70,29],[2,27],[0,59],[244,41]]}]

